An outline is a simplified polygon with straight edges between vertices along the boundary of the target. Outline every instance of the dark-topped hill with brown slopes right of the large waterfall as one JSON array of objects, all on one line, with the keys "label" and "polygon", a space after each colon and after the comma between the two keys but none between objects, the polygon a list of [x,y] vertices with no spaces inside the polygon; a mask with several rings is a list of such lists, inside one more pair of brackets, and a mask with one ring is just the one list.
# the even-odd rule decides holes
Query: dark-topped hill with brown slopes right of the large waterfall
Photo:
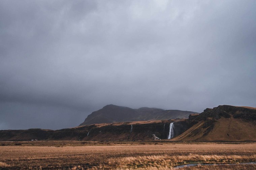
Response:
[{"label": "dark-topped hill with brown slopes right of the large waterfall", "polygon": [[188,121],[191,127],[171,140],[256,141],[256,108],[222,105],[207,108]]}]

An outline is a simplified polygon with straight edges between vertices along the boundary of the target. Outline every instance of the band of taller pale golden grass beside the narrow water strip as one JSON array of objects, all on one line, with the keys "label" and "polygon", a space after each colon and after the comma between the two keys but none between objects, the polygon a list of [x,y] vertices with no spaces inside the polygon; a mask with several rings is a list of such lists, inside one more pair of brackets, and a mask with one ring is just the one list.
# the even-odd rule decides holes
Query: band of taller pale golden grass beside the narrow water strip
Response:
[{"label": "band of taller pale golden grass beside the narrow water strip", "polygon": [[250,156],[241,155],[153,155],[153,156],[138,156],[125,157],[120,159],[109,159],[110,167],[121,168],[138,168],[138,167],[175,167],[181,164],[188,164],[191,162],[204,164],[234,164],[239,162],[246,162],[247,160],[256,161],[256,154]]}]

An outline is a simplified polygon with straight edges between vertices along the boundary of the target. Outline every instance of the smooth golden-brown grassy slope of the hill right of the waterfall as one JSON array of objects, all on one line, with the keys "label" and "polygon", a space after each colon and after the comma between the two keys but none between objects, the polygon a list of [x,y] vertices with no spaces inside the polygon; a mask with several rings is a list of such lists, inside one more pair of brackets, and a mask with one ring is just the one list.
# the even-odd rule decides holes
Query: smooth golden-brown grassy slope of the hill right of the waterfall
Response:
[{"label": "smooth golden-brown grassy slope of the hill right of the waterfall", "polygon": [[[254,141],[256,122],[235,118],[220,118],[214,127],[206,133],[204,121],[198,122],[184,133],[172,138],[172,141]],[[245,130],[246,129],[246,130]]]}]

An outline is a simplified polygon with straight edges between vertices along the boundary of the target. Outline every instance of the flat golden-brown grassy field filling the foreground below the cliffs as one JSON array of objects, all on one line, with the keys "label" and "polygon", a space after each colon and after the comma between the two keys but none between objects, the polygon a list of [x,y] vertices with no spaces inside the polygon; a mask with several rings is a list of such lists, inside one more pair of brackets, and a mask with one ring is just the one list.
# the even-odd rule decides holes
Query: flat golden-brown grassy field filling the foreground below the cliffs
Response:
[{"label": "flat golden-brown grassy field filling the foreground below the cliffs", "polygon": [[[256,169],[255,143],[0,142],[0,169]],[[235,165],[228,165],[235,164]]]}]

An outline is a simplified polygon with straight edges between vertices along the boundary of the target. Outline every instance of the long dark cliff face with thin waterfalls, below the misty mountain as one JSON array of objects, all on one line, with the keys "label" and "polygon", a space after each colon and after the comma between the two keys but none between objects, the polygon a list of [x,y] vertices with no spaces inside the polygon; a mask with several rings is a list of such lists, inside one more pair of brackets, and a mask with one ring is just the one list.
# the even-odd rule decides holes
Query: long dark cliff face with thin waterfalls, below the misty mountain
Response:
[{"label": "long dark cliff face with thin waterfalls, below the misty mountain", "polygon": [[[0,130],[0,140],[151,140],[154,134],[166,139],[170,123],[174,121],[103,123],[60,130]],[[178,120],[177,125],[176,135],[189,127],[186,119]]]}]

